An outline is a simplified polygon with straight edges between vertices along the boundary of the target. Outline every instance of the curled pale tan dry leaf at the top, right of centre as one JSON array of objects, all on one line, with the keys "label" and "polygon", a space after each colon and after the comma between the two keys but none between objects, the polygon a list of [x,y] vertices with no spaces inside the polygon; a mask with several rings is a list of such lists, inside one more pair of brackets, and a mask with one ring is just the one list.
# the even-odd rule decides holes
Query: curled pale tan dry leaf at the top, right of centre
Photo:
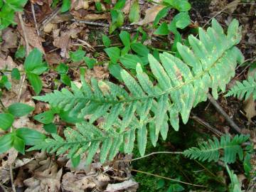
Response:
[{"label": "curled pale tan dry leaf at the top, right of centre", "polygon": [[143,26],[147,23],[153,22],[154,19],[156,18],[156,15],[159,13],[159,11],[161,11],[161,9],[164,9],[164,7],[165,6],[163,5],[152,6],[151,8],[146,10],[146,15],[144,19],[142,19],[142,21],[131,23],[131,25],[135,24],[135,25]]}]

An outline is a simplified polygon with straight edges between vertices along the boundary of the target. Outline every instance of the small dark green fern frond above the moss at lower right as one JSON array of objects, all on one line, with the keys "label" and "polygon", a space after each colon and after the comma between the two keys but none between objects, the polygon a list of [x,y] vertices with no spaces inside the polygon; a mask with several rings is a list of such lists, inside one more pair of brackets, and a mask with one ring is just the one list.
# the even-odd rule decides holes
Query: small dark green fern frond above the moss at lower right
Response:
[{"label": "small dark green fern frond above the moss at lower right", "polygon": [[234,163],[238,154],[242,159],[242,147],[240,144],[249,139],[248,135],[236,135],[230,140],[229,135],[220,137],[220,142],[216,137],[209,139],[208,142],[198,144],[198,147],[191,147],[183,151],[183,154],[190,159],[200,161],[218,161],[220,159],[220,149],[224,150],[224,161],[227,164]]}]

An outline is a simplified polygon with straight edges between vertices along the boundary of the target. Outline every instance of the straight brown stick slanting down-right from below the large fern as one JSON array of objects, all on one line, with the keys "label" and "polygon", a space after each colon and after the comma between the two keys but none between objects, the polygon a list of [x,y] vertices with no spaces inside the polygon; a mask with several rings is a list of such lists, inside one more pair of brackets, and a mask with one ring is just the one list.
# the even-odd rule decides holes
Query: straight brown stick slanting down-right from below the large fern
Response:
[{"label": "straight brown stick slanting down-right from below the large fern", "polygon": [[213,104],[213,106],[215,107],[215,109],[223,115],[223,117],[225,118],[225,120],[228,122],[228,124],[230,124],[230,127],[232,127],[235,132],[241,133],[241,129],[238,127],[237,124],[235,124],[235,122],[228,116],[228,114],[223,110],[222,107],[220,107],[220,105],[218,104],[218,102],[216,102],[213,98],[213,96],[211,96],[209,93],[207,95],[208,100],[210,101],[211,104]]}]

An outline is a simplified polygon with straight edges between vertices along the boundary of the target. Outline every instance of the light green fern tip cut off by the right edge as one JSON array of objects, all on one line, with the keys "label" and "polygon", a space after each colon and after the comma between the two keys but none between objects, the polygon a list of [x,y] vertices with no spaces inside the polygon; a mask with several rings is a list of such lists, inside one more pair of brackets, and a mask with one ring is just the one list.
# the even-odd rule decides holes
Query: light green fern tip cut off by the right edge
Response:
[{"label": "light green fern tip cut off by the right edge", "polygon": [[237,81],[236,85],[234,85],[225,97],[234,96],[242,99],[245,97],[247,100],[252,94],[253,100],[256,100],[256,74],[254,77],[249,76],[247,80],[243,80],[242,82]]}]

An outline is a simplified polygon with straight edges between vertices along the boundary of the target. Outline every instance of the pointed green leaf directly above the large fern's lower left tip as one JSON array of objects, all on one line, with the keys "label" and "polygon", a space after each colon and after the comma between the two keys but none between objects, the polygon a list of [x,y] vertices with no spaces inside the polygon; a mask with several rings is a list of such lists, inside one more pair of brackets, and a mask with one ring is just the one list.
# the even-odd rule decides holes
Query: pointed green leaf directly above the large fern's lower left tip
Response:
[{"label": "pointed green leaf directly above the large fern's lower left tip", "polygon": [[41,132],[26,127],[16,129],[16,136],[23,139],[26,145],[38,144],[46,139]]}]

